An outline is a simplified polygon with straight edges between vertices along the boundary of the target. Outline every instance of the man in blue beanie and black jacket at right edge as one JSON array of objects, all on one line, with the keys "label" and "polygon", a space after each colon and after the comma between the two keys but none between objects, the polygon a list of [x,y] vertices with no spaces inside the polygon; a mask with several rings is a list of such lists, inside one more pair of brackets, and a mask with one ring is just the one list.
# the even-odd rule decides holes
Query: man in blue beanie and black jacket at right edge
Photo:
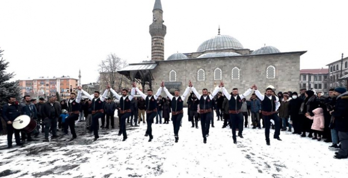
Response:
[{"label": "man in blue beanie and black jacket at right edge", "polygon": [[338,131],[341,149],[335,154],[336,159],[348,158],[348,92],[344,87],[336,87],[337,97],[335,107],[330,114],[334,117],[335,129]]}]

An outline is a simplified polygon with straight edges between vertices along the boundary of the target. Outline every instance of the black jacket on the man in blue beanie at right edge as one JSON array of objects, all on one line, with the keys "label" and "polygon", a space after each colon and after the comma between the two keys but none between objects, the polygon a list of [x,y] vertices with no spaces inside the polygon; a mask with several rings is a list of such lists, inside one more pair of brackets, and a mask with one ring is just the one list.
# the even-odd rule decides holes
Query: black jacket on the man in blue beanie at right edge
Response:
[{"label": "black jacket on the man in blue beanie at right edge", "polygon": [[348,132],[348,92],[337,97],[331,115],[335,118],[335,129],[339,132]]}]

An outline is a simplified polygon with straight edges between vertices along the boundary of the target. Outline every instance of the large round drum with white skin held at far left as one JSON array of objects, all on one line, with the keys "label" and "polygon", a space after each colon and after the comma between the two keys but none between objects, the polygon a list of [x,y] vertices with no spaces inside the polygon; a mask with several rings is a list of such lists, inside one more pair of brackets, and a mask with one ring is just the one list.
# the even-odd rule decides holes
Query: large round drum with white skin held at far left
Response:
[{"label": "large round drum with white skin held at far left", "polygon": [[13,128],[23,130],[26,133],[33,132],[37,125],[36,121],[27,115],[20,115],[12,122]]}]

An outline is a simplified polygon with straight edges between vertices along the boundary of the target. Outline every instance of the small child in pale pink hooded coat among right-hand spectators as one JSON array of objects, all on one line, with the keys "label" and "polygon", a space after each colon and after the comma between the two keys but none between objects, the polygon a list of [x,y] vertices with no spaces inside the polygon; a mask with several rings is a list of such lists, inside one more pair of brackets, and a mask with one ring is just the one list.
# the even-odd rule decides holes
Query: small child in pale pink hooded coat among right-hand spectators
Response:
[{"label": "small child in pale pink hooded coat among right-hand spectators", "polygon": [[[322,132],[324,131],[324,113],[322,108],[317,108],[313,110],[314,116],[310,116],[306,113],[307,118],[313,120],[311,129],[313,130],[314,136],[312,139],[322,140]],[[317,137],[318,134],[318,137]]]}]

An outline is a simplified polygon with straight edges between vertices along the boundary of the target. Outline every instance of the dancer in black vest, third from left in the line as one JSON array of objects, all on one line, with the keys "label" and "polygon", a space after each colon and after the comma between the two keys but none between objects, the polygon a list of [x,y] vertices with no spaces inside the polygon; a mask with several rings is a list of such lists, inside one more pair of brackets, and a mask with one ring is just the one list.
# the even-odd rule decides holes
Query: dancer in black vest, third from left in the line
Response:
[{"label": "dancer in black vest, third from left in the line", "polygon": [[123,134],[123,140],[125,141],[127,139],[127,133],[125,132],[125,120],[129,118],[132,114],[131,111],[131,101],[134,96],[134,90],[132,89],[131,96],[128,96],[128,90],[122,89],[122,97],[119,96],[112,88],[110,85],[107,86],[107,88],[110,90],[110,92],[119,100],[119,105],[120,105],[120,117],[121,117],[121,123],[118,131],[118,135]]}]

